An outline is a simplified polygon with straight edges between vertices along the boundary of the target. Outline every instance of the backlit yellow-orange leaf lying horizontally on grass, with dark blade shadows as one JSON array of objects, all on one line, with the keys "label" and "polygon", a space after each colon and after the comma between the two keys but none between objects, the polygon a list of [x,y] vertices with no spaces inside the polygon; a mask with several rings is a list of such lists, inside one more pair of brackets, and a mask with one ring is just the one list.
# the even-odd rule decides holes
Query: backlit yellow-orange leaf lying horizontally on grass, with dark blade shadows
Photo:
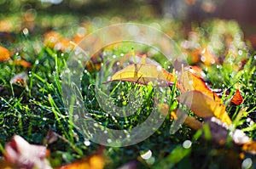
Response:
[{"label": "backlit yellow-orange leaf lying horizontally on grass, with dark blade shadows", "polygon": [[111,81],[127,81],[148,84],[148,82],[158,82],[157,85],[168,86],[173,84],[175,77],[163,69],[160,65],[152,64],[132,64],[119,70],[113,76]]}]

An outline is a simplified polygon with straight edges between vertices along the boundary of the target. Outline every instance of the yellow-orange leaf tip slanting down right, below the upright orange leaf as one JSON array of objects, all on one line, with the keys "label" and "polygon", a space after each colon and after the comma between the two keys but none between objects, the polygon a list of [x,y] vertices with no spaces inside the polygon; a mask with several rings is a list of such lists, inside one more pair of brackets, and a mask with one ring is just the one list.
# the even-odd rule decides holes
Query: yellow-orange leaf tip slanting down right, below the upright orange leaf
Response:
[{"label": "yellow-orange leaf tip slanting down right, below the upright orange leaf", "polygon": [[226,113],[224,104],[220,104],[207,94],[200,91],[192,90],[183,93],[177,97],[181,104],[185,104],[192,110],[195,115],[202,118],[215,116],[228,125],[232,123],[230,116]]}]

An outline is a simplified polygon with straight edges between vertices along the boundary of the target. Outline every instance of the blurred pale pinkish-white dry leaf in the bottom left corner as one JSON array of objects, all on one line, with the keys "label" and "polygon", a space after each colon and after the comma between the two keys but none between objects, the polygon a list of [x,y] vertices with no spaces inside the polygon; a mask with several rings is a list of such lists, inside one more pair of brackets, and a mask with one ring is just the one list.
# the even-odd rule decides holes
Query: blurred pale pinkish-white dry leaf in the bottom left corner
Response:
[{"label": "blurred pale pinkish-white dry leaf in the bottom left corner", "polygon": [[29,144],[24,138],[15,135],[5,145],[4,163],[12,168],[50,169],[52,167],[49,166],[49,161],[46,159],[47,155],[49,155],[49,151],[46,147]]}]

